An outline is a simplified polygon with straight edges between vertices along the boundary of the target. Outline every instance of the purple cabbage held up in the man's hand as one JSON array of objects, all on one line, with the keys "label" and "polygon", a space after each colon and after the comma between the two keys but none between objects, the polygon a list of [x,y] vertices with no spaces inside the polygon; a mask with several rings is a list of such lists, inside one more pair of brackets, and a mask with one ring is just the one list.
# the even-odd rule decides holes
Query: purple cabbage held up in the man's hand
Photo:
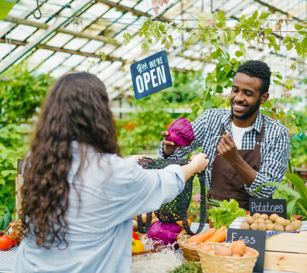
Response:
[{"label": "purple cabbage held up in the man's hand", "polygon": [[190,122],[184,117],[175,120],[168,128],[168,141],[172,141],[176,147],[190,145],[195,139]]}]

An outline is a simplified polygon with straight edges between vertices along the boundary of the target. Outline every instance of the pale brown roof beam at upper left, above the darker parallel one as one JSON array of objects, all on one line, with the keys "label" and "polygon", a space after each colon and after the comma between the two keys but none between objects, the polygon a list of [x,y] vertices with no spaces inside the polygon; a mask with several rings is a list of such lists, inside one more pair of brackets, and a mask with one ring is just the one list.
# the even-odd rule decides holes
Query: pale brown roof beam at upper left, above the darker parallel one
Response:
[{"label": "pale brown roof beam at upper left, above the darker parallel one", "polygon": [[[46,23],[38,23],[36,21],[30,21],[30,20],[23,20],[21,18],[15,18],[15,17],[11,17],[11,16],[6,16],[3,21],[8,21],[8,22],[13,22],[16,24],[22,24],[22,25],[28,25],[28,26],[34,26],[40,29],[47,29],[48,28],[48,24]],[[69,34],[72,35],[74,37],[78,37],[78,38],[85,38],[85,39],[89,39],[89,40],[96,40],[99,42],[104,42],[104,43],[109,43],[108,38],[106,38],[105,36],[102,35],[90,35],[90,34],[86,34],[86,33],[82,33],[82,32],[77,32],[77,31],[72,31],[72,30],[68,30],[65,28],[58,28],[57,30],[55,30],[55,32],[60,32],[60,33],[65,33],[65,34]],[[113,42],[113,44],[116,44],[118,46],[121,46],[122,43],[120,42]]]}]

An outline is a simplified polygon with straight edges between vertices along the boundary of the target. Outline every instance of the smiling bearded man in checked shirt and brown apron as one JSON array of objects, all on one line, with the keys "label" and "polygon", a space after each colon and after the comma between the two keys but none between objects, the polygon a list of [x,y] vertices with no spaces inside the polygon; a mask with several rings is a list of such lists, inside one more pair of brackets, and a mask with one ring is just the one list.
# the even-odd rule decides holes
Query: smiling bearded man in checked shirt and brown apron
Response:
[{"label": "smiling bearded man in checked shirt and brown apron", "polygon": [[269,198],[273,187],[257,187],[280,182],[288,166],[289,132],[280,122],[263,115],[259,108],[269,97],[270,69],[261,61],[238,67],[230,92],[231,109],[209,109],[192,127],[195,140],[190,146],[175,147],[161,132],[159,158],[181,159],[202,147],[210,159],[205,170],[207,197],[236,199],[249,210],[248,199]]}]

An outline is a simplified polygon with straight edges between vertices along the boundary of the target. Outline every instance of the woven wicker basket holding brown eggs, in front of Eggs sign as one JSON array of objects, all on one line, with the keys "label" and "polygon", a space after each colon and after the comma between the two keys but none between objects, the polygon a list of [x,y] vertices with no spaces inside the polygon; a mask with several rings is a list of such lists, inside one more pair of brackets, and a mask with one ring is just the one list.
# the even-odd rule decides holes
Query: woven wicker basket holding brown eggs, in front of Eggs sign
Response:
[{"label": "woven wicker basket holding brown eggs, in front of Eggs sign", "polygon": [[[208,244],[212,249],[220,246],[229,245],[229,243],[203,243]],[[201,246],[200,245],[200,246]],[[220,255],[211,255],[208,252],[197,247],[197,252],[200,256],[200,262],[203,273],[252,273],[256,264],[259,252],[255,249],[246,247],[246,249],[253,250],[256,255],[251,257],[228,257]]]}]

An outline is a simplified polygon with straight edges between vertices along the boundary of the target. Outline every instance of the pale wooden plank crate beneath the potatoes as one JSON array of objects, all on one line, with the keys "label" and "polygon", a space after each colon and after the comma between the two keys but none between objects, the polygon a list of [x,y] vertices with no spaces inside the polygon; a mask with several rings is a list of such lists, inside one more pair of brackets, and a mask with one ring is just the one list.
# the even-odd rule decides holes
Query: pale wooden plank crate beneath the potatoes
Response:
[{"label": "pale wooden plank crate beneath the potatoes", "polygon": [[307,273],[307,231],[266,238],[264,269]]}]

